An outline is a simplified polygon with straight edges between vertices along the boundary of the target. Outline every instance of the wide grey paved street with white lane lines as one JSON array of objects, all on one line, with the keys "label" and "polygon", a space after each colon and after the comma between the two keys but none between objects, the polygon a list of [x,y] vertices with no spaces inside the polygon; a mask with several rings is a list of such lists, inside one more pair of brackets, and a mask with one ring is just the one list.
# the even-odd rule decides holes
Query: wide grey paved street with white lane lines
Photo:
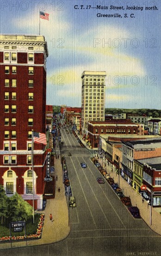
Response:
[{"label": "wide grey paved street with white lane lines", "polygon": [[[10,249],[16,256],[126,256],[160,255],[161,236],[142,219],[134,219],[91,161],[91,152],[81,148],[73,134],[62,130],[62,147],[77,207],[69,209],[71,232],[59,242],[39,247]],[[72,156],[68,156],[68,152]],[[87,168],[81,168],[86,162]],[[147,254],[149,253],[149,254]]]}]

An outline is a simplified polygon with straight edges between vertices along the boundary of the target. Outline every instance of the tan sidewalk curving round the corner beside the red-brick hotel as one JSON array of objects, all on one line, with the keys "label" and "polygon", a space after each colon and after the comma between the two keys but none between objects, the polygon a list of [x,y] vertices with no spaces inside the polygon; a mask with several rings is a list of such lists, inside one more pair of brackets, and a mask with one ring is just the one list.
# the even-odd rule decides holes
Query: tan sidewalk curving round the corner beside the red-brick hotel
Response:
[{"label": "tan sidewalk curving round the corner beside the red-brick hotel", "polygon": [[[70,232],[70,224],[68,226],[68,205],[65,196],[64,184],[62,183],[62,165],[61,160],[56,159],[55,173],[53,176],[58,176],[56,181],[56,195],[54,199],[47,199],[46,207],[44,211],[44,225],[41,239],[27,241],[27,246],[34,246],[47,243],[55,243],[65,239]],[[60,187],[60,192],[58,188]],[[54,221],[50,221],[50,213],[53,216]],[[18,235],[18,234],[17,234]],[[26,242],[13,242],[12,248],[24,247]],[[0,249],[10,249],[11,244],[0,243]]]}]

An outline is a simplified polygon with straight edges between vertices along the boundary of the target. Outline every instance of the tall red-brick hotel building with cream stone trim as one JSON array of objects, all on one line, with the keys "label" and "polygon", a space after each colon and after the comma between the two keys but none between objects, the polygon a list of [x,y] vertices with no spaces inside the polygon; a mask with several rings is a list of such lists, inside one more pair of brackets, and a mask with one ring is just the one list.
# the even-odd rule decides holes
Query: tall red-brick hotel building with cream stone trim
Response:
[{"label": "tall red-brick hotel building with cream stone trim", "polygon": [[47,57],[43,36],[0,35],[0,184],[8,196],[34,199],[35,209],[43,205],[45,146],[34,143],[32,172],[31,135],[46,130]]}]

